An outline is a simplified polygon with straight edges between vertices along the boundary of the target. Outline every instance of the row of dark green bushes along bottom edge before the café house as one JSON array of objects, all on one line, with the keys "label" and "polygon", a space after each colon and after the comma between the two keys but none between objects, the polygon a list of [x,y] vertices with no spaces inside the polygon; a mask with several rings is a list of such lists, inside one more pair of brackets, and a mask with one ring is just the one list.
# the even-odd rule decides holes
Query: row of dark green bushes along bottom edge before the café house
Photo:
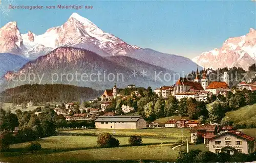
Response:
[{"label": "row of dark green bushes along bottom edge before the caf\u00e9 house", "polygon": [[250,154],[236,153],[230,156],[227,153],[202,152],[195,149],[187,151],[181,150],[178,154],[177,162],[250,162],[256,160],[256,152]]}]

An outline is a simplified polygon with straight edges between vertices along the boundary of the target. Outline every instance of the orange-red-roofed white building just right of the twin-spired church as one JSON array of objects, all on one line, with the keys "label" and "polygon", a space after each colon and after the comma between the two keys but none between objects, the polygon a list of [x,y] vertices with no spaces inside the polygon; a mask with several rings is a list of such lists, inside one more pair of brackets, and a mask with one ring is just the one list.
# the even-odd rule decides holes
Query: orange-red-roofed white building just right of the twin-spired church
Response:
[{"label": "orange-red-roofed white building just right of the twin-spired church", "polygon": [[217,95],[220,91],[231,91],[226,82],[211,82],[205,91],[212,92]]}]

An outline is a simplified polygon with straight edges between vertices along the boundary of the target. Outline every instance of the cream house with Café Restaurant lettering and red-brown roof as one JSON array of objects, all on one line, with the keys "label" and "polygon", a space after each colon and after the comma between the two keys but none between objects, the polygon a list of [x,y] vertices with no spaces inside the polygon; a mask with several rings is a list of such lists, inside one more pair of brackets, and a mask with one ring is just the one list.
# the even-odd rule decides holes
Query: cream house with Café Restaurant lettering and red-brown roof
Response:
[{"label": "cream house with Caf\u00e9 Restaurant lettering and red-brown roof", "polygon": [[209,139],[209,151],[214,153],[225,152],[251,153],[255,151],[255,138],[240,131],[230,130]]}]

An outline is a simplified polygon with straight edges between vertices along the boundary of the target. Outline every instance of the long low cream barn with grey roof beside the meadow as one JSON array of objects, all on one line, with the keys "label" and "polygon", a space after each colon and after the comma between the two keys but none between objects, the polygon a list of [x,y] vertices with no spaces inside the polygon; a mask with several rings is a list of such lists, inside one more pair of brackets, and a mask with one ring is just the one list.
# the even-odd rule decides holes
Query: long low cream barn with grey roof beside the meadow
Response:
[{"label": "long low cream barn with grey roof beside the meadow", "polygon": [[140,129],[146,128],[142,116],[99,116],[95,121],[96,128]]}]

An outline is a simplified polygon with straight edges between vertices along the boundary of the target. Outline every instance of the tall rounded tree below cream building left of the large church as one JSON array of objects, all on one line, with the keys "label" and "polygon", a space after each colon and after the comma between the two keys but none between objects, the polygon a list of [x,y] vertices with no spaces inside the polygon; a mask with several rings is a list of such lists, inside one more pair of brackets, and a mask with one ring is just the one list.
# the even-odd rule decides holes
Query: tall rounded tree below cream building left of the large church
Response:
[{"label": "tall rounded tree below cream building left of the large church", "polygon": [[169,96],[164,106],[164,113],[166,117],[175,115],[178,110],[179,101],[175,96]]}]

